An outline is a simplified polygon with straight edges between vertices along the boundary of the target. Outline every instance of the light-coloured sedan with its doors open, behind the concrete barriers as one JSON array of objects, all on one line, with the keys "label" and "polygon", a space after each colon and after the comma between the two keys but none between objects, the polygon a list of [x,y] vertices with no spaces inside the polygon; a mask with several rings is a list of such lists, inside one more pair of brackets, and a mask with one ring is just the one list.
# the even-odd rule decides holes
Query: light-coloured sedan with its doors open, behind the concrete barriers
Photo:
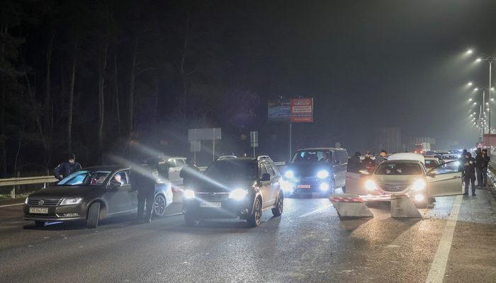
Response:
[{"label": "light-coloured sedan with its doors open, behind the concrete barriers", "polygon": [[393,154],[373,174],[360,171],[361,178],[346,178],[346,192],[358,195],[407,195],[425,207],[432,197],[462,194],[461,172],[456,161],[427,170],[424,156]]}]

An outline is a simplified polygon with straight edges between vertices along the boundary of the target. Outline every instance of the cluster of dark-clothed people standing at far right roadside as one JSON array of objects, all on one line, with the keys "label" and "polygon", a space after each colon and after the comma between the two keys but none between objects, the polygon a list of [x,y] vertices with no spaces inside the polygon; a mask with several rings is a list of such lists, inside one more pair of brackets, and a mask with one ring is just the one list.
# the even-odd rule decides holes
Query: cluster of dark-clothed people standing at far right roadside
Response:
[{"label": "cluster of dark-clothed people standing at far right roadside", "polygon": [[[468,187],[472,189],[472,196],[475,196],[475,187],[487,187],[487,167],[489,166],[490,157],[487,155],[487,149],[475,151],[475,158],[466,149],[460,157],[460,170],[463,181],[465,182],[465,192],[468,195]],[[477,179],[477,186],[475,186]]]}]

